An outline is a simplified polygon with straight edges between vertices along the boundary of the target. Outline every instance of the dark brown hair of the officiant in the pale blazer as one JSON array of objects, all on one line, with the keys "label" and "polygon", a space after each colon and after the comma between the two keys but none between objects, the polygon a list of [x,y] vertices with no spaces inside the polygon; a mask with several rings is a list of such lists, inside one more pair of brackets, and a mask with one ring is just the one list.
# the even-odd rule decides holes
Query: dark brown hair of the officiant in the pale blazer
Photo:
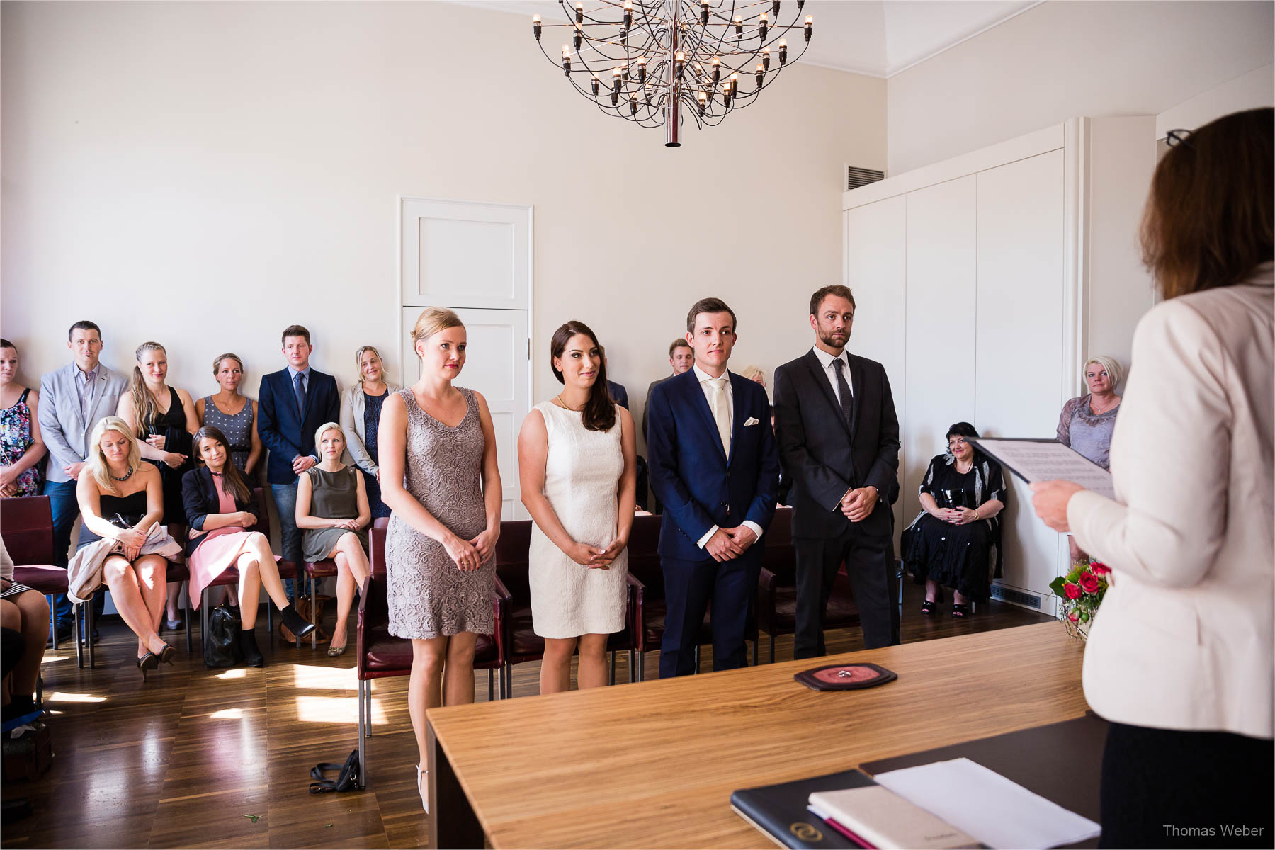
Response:
[{"label": "dark brown hair of the officiant in the pale blazer", "polygon": [[1272,254],[1275,110],[1182,134],[1155,167],[1142,263],[1165,298],[1243,283]]}]

